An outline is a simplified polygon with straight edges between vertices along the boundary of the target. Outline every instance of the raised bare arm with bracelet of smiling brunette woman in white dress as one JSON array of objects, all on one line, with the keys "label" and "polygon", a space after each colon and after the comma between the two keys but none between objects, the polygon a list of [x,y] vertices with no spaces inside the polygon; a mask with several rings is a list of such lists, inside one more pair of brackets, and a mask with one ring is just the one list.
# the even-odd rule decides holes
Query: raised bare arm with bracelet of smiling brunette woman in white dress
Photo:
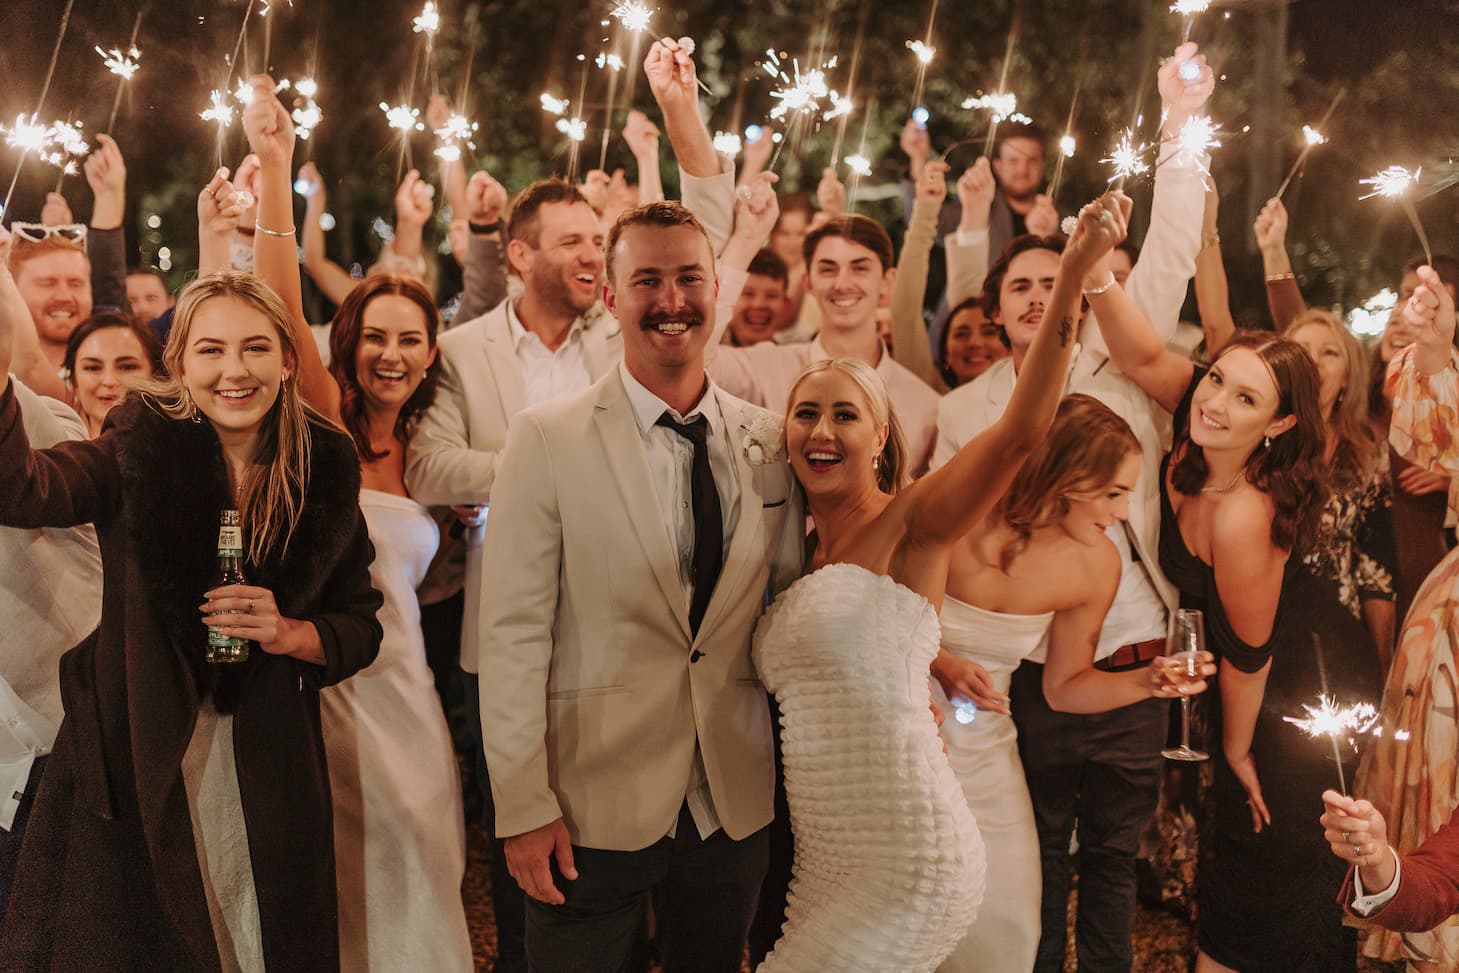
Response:
[{"label": "raised bare arm with bracelet of smiling brunette woman in white dress", "polygon": [[254,268],[273,287],[289,311],[293,347],[299,356],[299,389],[305,401],[340,420],[340,387],[324,368],[303,317],[299,286],[299,252],[293,230],[293,187],[289,166],[293,159],[293,120],[273,90],[267,74],[252,77],[254,99],[244,108],[244,131],[258,156],[258,225],[254,228]]}]

